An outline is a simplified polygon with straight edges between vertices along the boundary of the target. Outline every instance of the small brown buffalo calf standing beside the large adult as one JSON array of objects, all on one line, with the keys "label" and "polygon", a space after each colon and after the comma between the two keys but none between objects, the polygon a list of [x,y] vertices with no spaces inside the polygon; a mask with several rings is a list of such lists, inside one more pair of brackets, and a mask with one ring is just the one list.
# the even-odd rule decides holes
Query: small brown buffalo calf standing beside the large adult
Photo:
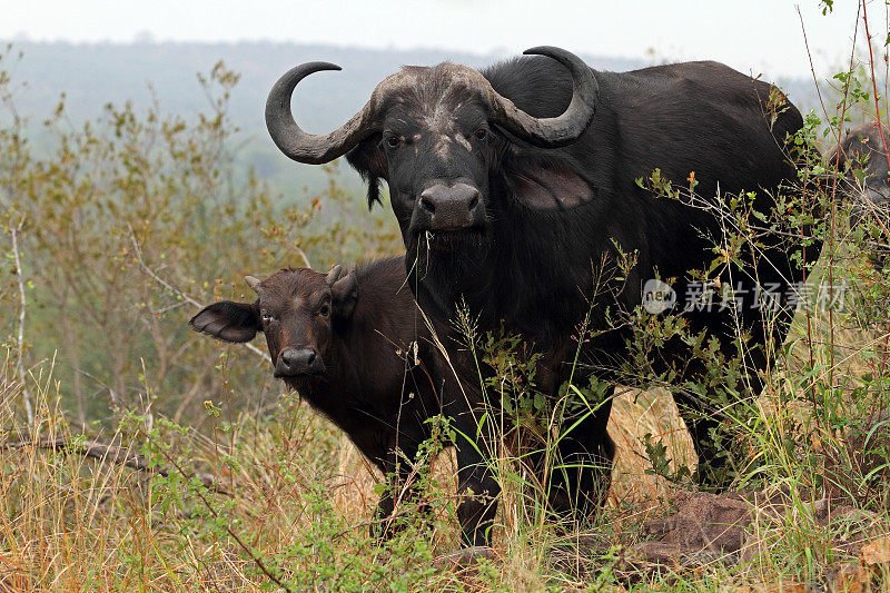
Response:
[{"label": "small brown buffalo calf standing beside the large adult", "polygon": [[[405,286],[404,259],[365,264],[342,278],[336,266],[327,275],[301,268],[246,280],[254,303],[214,303],[189,325],[226,342],[265,333],[275,376],[408,487],[416,473],[405,459],[429,438],[426,421],[439,405],[435,352]],[[382,522],[394,512],[393,490],[377,506]]]}]

